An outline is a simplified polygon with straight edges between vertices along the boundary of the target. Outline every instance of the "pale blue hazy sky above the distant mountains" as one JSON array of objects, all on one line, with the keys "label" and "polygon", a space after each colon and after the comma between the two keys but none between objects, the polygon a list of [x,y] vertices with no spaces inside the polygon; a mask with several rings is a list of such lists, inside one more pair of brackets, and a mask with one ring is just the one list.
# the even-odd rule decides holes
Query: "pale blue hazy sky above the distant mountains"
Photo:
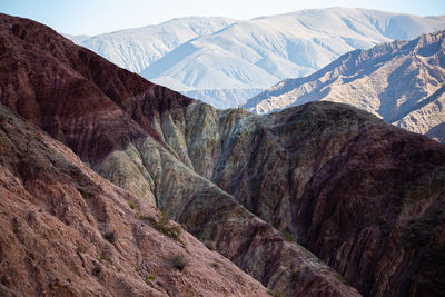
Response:
[{"label": "pale blue hazy sky above the distant mountains", "polygon": [[0,12],[70,34],[98,34],[189,16],[251,19],[308,8],[352,7],[445,14],[445,0],[0,0]]}]

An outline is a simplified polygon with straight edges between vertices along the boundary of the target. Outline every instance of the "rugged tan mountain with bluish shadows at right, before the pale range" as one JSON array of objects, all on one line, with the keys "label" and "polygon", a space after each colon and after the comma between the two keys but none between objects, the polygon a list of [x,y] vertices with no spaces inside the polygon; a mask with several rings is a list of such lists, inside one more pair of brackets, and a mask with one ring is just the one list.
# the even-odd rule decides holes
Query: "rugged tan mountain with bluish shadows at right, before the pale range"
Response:
[{"label": "rugged tan mountain with bluish shadows at right, before the pale range", "polygon": [[244,108],[265,113],[309,101],[344,102],[445,141],[444,83],[445,31],[439,31],[348,52],[308,77],[281,81]]}]

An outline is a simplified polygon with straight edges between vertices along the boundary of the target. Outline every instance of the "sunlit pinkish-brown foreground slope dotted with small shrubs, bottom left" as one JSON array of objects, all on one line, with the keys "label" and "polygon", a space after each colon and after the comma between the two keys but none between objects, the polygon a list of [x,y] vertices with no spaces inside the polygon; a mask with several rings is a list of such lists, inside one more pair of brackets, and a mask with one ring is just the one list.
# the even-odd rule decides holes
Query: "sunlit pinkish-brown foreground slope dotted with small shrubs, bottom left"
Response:
[{"label": "sunlit pinkish-brown foreground slope dotted with small shrubs, bottom left", "polygon": [[0,197],[1,296],[268,295],[3,106]]}]

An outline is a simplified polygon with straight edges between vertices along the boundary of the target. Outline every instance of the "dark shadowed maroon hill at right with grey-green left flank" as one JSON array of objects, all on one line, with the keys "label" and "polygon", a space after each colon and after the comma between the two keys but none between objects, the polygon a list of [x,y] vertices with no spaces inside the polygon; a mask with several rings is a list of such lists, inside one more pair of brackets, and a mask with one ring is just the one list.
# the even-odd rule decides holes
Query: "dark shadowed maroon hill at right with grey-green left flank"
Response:
[{"label": "dark shadowed maroon hill at right with grey-green left flank", "polygon": [[433,260],[444,248],[443,145],[329,102],[267,117],[189,106],[187,119],[195,170],[362,294],[444,293]]}]

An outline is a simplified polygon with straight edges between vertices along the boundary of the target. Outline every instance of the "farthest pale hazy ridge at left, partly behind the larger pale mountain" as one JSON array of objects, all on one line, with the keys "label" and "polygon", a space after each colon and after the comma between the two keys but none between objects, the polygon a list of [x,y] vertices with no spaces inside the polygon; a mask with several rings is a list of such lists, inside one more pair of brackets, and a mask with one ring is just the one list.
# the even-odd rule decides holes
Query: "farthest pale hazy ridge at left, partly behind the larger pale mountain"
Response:
[{"label": "farthest pale hazy ridge at left, partly behind the larger pale mountain", "polygon": [[120,67],[140,72],[184,42],[218,31],[234,21],[219,17],[189,17],[91,38],[66,37]]}]

